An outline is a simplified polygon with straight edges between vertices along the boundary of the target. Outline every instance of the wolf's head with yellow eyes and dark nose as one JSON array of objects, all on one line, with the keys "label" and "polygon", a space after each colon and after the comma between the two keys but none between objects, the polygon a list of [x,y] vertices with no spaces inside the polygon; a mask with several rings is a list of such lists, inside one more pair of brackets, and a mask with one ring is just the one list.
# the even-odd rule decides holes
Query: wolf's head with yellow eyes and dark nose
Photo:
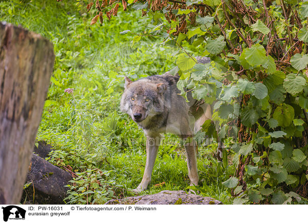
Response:
[{"label": "wolf's head with yellow eyes and dark nose", "polygon": [[133,82],[125,77],[124,86],[120,108],[130,115],[133,121],[143,124],[163,112],[163,95],[166,91],[164,83],[153,83],[146,78]]}]

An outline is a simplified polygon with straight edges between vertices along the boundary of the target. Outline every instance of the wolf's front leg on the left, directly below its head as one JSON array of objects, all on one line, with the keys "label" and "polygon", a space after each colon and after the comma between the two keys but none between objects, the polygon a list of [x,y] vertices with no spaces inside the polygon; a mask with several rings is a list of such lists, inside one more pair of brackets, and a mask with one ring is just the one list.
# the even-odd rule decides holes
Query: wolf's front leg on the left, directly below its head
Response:
[{"label": "wolf's front leg on the left, directly below its head", "polygon": [[146,137],[146,164],[145,169],[142,177],[142,181],[139,186],[132,190],[133,192],[140,192],[146,190],[147,186],[151,181],[152,170],[155,164],[158,147],[161,141],[161,136],[157,135],[147,136]]}]

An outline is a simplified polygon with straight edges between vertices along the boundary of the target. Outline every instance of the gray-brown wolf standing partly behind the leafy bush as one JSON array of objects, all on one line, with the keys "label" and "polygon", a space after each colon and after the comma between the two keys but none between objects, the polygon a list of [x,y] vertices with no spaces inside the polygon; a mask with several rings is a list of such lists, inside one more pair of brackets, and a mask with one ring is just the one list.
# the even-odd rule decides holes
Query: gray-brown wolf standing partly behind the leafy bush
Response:
[{"label": "gray-brown wolf standing partly behind the leafy bush", "polygon": [[[196,59],[201,63],[209,62],[203,57]],[[187,92],[188,102],[180,95],[181,91],[177,87],[179,78],[178,74],[171,75],[170,72],[137,81],[125,77],[120,109],[131,116],[146,136],[145,170],[134,192],[146,190],[151,181],[162,133],[174,133],[183,141],[188,138],[191,140],[201,125],[212,119],[211,105],[205,104],[204,100],[192,98],[190,92]],[[190,185],[198,185],[196,145],[190,141],[184,147]]]}]

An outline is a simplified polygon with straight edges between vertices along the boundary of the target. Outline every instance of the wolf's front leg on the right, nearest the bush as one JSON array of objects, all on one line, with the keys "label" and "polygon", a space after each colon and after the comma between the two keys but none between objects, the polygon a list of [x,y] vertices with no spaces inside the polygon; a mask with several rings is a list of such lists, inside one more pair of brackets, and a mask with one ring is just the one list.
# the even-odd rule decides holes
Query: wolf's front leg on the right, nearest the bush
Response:
[{"label": "wolf's front leg on the right, nearest the bush", "polygon": [[189,138],[185,143],[185,152],[187,157],[188,177],[190,186],[198,185],[199,176],[197,171],[196,145],[194,140]]}]

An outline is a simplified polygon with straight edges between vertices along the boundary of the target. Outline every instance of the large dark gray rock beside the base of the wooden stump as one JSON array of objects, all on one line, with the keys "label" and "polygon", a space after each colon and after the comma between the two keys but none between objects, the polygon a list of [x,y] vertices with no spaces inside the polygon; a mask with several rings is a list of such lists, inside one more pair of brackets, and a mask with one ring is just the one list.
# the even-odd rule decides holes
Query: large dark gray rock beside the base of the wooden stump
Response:
[{"label": "large dark gray rock beside the base of the wooden stump", "polygon": [[72,177],[67,171],[33,154],[26,183],[33,182],[34,203],[32,184],[24,190],[21,203],[26,199],[27,204],[65,204],[63,199],[68,188],[64,186],[68,185],[70,180]]}]

